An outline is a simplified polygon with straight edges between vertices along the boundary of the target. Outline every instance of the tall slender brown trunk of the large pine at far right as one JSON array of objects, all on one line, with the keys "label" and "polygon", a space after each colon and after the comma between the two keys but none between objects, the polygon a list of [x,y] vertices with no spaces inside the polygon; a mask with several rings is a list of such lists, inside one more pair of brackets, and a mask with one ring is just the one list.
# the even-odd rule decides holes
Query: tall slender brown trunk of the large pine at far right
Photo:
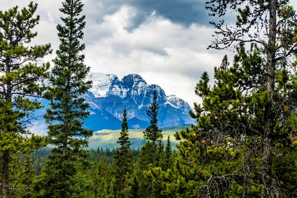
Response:
[{"label": "tall slender brown trunk of the large pine at far right", "polygon": [[269,41],[267,48],[267,91],[269,99],[265,105],[264,112],[264,133],[261,138],[262,143],[262,161],[261,161],[261,178],[264,185],[263,197],[270,197],[271,188],[271,160],[272,160],[272,144],[271,135],[273,132],[273,92],[275,80],[275,56],[276,56],[276,3],[277,0],[270,0],[270,13],[269,13]]}]

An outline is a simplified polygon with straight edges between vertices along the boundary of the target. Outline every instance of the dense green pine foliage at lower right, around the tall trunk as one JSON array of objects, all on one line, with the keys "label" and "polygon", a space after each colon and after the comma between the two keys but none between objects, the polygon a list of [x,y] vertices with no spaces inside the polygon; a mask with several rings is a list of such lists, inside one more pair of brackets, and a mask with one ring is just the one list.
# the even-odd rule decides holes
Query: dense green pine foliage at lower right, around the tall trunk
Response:
[{"label": "dense green pine foliage at lower right, around the tall trunk", "polygon": [[[150,169],[153,181],[162,181],[162,195],[187,198],[263,196],[263,147],[260,145],[268,96],[265,77],[261,74],[265,65],[259,54],[260,49],[256,45],[251,45],[247,51],[240,44],[233,66],[229,65],[225,56],[221,66],[214,69],[212,88],[205,83],[208,82],[205,73],[202,75],[196,93],[202,97],[203,103],[196,106],[196,113],[192,112],[197,126],[175,134],[180,144],[174,169],[166,172],[159,168]],[[274,140],[271,149],[275,153],[271,161],[272,173],[268,176],[271,197],[276,192],[280,197],[296,196],[293,190],[297,180],[294,177],[297,150],[293,145],[296,125],[292,121],[295,120],[296,110],[287,94],[295,96],[297,92],[292,87],[294,75],[286,78],[287,83],[277,85],[274,93],[278,98],[276,101],[279,101],[276,104],[279,106],[279,117],[276,117],[271,137]],[[208,91],[205,92],[206,88]]]}]

